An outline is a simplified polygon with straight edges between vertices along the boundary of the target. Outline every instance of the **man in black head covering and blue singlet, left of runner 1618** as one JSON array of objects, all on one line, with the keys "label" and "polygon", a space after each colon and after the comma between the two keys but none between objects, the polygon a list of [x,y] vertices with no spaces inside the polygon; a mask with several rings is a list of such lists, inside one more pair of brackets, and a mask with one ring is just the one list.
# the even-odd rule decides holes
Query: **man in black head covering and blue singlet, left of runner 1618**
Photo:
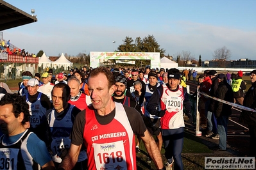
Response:
[{"label": "man in black head covering and blue singlet, left of runner 1618", "polygon": [[[70,88],[65,83],[58,83],[53,88],[53,109],[46,112],[47,129],[51,139],[51,152],[55,167],[58,168],[62,158],[69,150],[71,139],[69,136],[74,123],[74,118],[81,110],[74,105],[68,104]],[[80,151],[78,162],[74,169],[87,169],[87,155],[85,148]]]}]

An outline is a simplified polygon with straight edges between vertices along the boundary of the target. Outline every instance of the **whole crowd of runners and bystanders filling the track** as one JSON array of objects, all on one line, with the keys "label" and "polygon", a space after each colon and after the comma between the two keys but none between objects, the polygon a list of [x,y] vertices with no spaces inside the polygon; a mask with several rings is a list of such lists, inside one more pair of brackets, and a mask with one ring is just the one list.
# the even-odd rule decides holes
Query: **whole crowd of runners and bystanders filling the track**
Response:
[{"label": "whole crowd of runners and bystanders filling the track", "polygon": [[[255,74],[253,70],[250,75],[253,87]],[[183,113],[187,123],[193,122],[186,81],[176,68],[84,66],[56,75],[51,69],[35,75],[23,72],[18,93],[1,94],[1,165],[3,169],[136,169],[142,141],[157,169],[172,169],[174,164],[183,169]],[[235,87],[223,73],[205,71],[198,82],[200,91],[234,102]],[[244,100],[252,107],[248,101],[252,103],[253,96]],[[230,112],[228,105],[200,97],[201,128],[219,139],[217,150],[226,150]],[[252,143],[253,116],[250,112],[241,116],[252,132]],[[167,162],[160,155],[162,144]],[[250,147],[255,154],[255,146]]]}]

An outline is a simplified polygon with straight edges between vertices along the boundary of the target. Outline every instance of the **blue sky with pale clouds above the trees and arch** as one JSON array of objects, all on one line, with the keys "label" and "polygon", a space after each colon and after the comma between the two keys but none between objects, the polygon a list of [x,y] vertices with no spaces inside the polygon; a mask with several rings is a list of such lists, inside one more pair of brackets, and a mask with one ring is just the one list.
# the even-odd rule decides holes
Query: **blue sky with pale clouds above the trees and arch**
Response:
[{"label": "blue sky with pale clouds above the trees and arch", "polygon": [[7,2],[27,13],[35,9],[38,22],[3,31],[5,40],[30,53],[113,51],[126,36],[153,35],[170,56],[185,50],[204,61],[226,46],[230,59],[256,58],[255,0]]}]

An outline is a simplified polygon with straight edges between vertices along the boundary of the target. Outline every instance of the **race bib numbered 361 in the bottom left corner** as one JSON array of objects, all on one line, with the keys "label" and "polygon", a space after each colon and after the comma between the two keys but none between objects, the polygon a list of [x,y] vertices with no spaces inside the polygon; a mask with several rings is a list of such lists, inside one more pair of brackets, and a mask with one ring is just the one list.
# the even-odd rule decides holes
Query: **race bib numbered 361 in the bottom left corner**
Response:
[{"label": "race bib numbered 361 in the bottom left corner", "polygon": [[1,148],[0,149],[0,169],[17,169],[19,149]]}]

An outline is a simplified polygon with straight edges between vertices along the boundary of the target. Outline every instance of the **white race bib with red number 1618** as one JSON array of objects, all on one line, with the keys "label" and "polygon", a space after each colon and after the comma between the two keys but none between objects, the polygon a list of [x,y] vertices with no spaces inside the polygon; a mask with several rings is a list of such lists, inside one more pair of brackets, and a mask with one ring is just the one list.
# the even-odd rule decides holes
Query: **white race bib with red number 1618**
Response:
[{"label": "white race bib with red number 1618", "polygon": [[93,143],[96,169],[127,169],[123,141]]}]

